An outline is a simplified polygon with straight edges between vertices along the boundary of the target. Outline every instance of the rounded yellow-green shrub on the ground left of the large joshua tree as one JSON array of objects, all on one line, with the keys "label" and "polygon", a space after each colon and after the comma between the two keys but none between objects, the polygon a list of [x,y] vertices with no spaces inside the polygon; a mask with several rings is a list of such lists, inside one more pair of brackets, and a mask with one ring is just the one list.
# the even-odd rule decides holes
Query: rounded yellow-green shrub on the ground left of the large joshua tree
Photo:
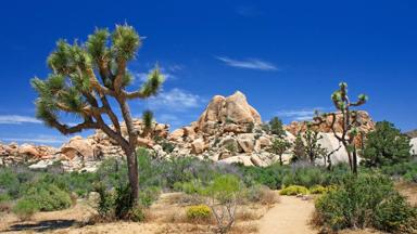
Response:
[{"label": "rounded yellow-green shrub on the ground left of the large joshua tree", "polygon": [[61,210],[72,205],[70,194],[53,184],[35,184],[24,197],[36,204],[40,211]]}]

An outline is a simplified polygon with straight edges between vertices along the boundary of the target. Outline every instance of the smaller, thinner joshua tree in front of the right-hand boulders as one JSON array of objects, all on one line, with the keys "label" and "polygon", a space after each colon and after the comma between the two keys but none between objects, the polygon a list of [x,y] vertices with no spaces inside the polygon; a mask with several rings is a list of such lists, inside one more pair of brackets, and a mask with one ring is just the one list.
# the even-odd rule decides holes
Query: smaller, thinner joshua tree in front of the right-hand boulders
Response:
[{"label": "smaller, thinner joshua tree in front of the right-hand boulders", "polygon": [[340,126],[341,132],[337,132],[336,126],[336,113],[327,113],[323,115],[317,115],[314,120],[316,125],[321,125],[326,122],[328,116],[331,117],[330,129],[334,134],[334,138],[343,144],[348,151],[349,165],[353,173],[357,173],[357,148],[355,145],[355,138],[361,134],[358,128],[362,125],[362,120],[356,110],[352,110],[352,107],[357,107],[364,105],[368,101],[368,96],[361,94],[356,102],[351,102],[348,96],[348,84],[341,82],[339,84],[339,90],[334,91],[331,95],[334,107],[342,115],[342,123]]}]

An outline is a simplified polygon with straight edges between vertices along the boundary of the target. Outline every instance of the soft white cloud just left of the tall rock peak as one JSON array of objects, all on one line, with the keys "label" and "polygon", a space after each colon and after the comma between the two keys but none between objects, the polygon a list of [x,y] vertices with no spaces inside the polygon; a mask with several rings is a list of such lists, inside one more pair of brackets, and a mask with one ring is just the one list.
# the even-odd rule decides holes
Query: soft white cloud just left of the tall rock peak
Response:
[{"label": "soft white cloud just left of the tall rock peak", "polygon": [[148,105],[151,109],[166,108],[170,112],[195,108],[199,107],[201,103],[202,99],[199,95],[177,88],[163,91],[159,95],[148,100]]}]

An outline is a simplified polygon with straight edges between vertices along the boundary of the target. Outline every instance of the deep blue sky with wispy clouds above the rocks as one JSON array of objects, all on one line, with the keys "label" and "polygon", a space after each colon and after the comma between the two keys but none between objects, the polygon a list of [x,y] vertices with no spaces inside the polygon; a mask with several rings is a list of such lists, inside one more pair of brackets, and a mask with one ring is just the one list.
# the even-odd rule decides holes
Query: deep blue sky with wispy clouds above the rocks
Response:
[{"label": "deep blue sky with wispy clouds above the rocks", "polygon": [[[143,38],[129,65],[140,83],[156,62],[162,94],[131,103],[173,128],[198,118],[215,94],[236,90],[264,120],[332,110],[344,80],[363,108],[402,130],[417,128],[417,2],[396,1],[8,1],[0,8],[0,141],[60,145],[34,118],[34,76],[60,38],[85,41],[96,27],[128,23]],[[84,134],[88,134],[86,132]]]}]

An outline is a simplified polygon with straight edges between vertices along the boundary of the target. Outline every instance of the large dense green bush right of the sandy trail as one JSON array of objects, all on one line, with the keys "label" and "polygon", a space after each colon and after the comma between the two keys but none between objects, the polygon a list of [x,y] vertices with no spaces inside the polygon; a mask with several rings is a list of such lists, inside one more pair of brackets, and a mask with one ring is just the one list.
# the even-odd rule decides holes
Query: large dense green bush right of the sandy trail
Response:
[{"label": "large dense green bush right of the sandy trail", "polygon": [[[413,229],[410,207],[383,176],[346,176],[343,183],[316,200],[316,224],[338,231],[374,226],[390,232]],[[414,216],[415,217],[415,216]]]}]

